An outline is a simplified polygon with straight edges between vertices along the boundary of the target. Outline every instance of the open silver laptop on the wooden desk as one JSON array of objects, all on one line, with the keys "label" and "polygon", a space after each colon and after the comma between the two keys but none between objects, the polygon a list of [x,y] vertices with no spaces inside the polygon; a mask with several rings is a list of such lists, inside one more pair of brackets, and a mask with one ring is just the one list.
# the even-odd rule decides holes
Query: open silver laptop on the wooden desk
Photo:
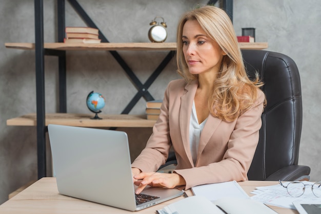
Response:
[{"label": "open silver laptop on the wooden desk", "polygon": [[147,187],[142,194],[153,200],[136,205],[125,132],[49,124],[48,133],[62,195],[134,211],[183,194],[175,188]]}]

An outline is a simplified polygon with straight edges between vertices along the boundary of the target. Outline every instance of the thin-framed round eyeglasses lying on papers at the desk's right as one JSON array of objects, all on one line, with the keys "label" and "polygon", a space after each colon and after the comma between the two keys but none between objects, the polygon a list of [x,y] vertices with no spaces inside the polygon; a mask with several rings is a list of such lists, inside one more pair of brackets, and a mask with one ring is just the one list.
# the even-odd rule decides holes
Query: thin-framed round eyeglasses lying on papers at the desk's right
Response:
[{"label": "thin-framed round eyeglasses lying on papers at the desk's right", "polygon": [[283,185],[283,183],[278,180],[278,183],[287,189],[288,194],[292,197],[300,197],[304,194],[306,186],[311,186],[311,190],[313,195],[316,197],[321,197],[321,181],[315,182],[314,184],[304,184],[300,181],[293,181],[288,183],[287,186]]}]

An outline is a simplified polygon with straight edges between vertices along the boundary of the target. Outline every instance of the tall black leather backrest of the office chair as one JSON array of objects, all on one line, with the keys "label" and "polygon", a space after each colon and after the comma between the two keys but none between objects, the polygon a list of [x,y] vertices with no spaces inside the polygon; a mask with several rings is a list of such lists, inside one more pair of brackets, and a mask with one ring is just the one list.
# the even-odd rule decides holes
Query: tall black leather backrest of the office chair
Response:
[{"label": "tall black leather backrest of the office chair", "polygon": [[267,106],[249,180],[267,180],[277,170],[298,164],[302,131],[302,95],[295,62],[288,56],[264,50],[242,50],[248,76],[258,72],[265,83]]}]

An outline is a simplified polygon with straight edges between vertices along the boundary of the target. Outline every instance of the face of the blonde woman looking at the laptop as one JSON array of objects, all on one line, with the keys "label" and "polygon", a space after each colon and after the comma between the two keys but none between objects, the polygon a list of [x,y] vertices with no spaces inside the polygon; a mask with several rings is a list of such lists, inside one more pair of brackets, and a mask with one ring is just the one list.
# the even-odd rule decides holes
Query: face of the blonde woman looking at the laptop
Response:
[{"label": "face of the blonde woman looking at the laptop", "polygon": [[197,20],[188,20],[183,27],[183,53],[191,74],[217,74],[226,55],[217,42],[209,38]]}]

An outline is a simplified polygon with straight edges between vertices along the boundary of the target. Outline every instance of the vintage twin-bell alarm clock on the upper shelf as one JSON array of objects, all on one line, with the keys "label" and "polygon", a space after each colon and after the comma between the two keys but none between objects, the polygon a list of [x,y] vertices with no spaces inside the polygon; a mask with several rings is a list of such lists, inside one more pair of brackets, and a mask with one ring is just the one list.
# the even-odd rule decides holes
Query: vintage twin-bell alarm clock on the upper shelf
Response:
[{"label": "vintage twin-bell alarm clock on the upper shelf", "polygon": [[[163,19],[163,22],[160,24],[156,22],[157,18]],[[163,42],[167,38],[167,31],[166,31],[166,23],[164,22],[164,18],[160,16],[156,16],[154,20],[149,24],[152,27],[148,31],[148,38],[152,42]]]}]

